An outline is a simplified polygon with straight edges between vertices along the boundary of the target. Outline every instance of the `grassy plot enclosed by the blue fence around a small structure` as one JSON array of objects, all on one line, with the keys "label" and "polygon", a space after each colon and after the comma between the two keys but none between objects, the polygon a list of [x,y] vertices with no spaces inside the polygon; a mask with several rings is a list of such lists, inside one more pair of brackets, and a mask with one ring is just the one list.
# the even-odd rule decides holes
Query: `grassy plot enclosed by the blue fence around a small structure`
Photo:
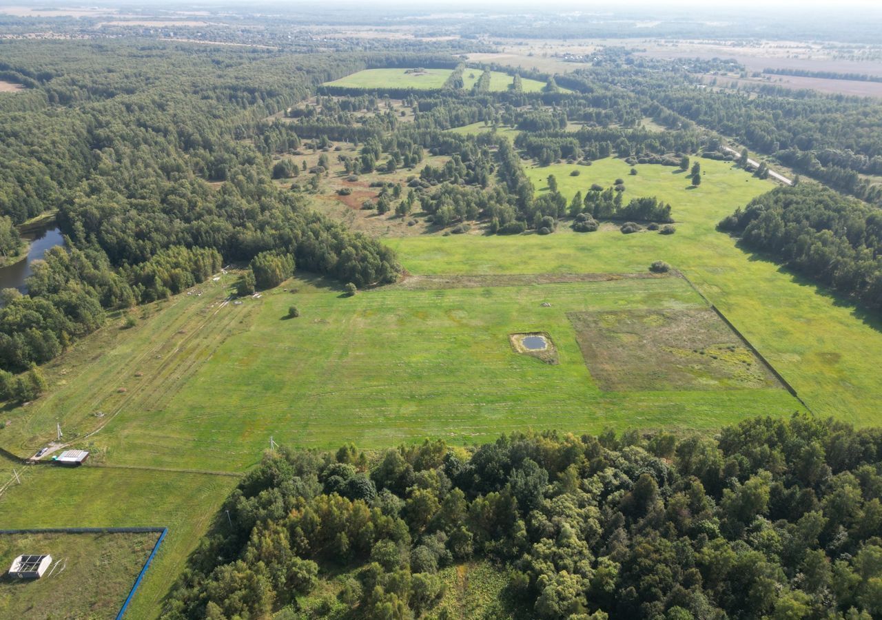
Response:
[{"label": "grassy plot enclosed by the blue fence around a small structure", "polygon": [[0,614],[6,618],[110,618],[153,550],[160,534],[0,534],[0,566],[20,555],[49,554],[41,579],[0,579]]}]

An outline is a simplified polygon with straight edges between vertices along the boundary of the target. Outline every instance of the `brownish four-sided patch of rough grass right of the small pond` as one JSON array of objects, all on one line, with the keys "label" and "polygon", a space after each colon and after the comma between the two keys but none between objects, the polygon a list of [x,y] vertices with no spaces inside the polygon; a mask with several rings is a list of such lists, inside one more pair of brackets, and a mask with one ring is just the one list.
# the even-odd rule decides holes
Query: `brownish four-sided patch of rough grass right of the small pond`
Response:
[{"label": "brownish four-sided patch of rough grass right of the small pond", "polygon": [[602,390],[782,387],[713,310],[570,312],[588,370]]}]

